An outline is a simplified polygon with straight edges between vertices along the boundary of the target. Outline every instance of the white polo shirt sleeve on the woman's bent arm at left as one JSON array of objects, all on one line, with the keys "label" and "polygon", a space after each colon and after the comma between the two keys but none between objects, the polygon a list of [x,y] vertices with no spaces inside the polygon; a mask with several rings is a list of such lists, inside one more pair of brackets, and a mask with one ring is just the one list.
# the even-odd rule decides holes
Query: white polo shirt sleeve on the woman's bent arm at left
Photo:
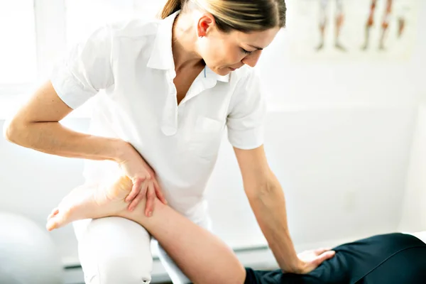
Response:
[{"label": "white polo shirt sleeve on the woman's bent arm at left", "polygon": [[111,28],[103,26],[77,43],[53,67],[50,82],[60,99],[77,109],[100,89],[114,84]]}]

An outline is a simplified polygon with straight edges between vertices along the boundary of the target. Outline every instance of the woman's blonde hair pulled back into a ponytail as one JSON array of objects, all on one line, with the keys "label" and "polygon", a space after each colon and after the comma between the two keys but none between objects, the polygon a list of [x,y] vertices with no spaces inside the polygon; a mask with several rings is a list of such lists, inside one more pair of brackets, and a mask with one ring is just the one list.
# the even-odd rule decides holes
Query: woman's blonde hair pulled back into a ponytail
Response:
[{"label": "woman's blonde hair pulled back into a ponytail", "polygon": [[214,16],[220,31],[265,31],[285,26],[285,0],[168,0],[160,18],[201,9]]}]

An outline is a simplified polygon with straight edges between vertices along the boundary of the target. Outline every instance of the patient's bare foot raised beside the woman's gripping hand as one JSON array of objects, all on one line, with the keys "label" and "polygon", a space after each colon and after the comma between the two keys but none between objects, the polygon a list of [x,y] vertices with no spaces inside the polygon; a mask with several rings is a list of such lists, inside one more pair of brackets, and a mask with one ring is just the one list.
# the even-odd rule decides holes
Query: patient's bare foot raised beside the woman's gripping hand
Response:
[{"label": "patient's bare foot raised beside the woman's gripping hand", "polygon": [[132,182],[127,177],[121,177],[109,186],[77,187],[53,209],[46,229],[52,231],[80,219],[114,216],[129,206],[124,199],[131,187]]}]

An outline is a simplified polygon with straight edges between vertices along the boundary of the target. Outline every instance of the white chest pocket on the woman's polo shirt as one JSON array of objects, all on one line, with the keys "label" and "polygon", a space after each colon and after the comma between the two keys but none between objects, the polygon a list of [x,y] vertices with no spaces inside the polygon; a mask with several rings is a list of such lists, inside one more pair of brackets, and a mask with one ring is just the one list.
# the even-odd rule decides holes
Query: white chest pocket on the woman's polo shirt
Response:
[{"label": "white chest pocket on the woman's polo shirt", "polygon": [[202,158],[215,158],[222,141],[224,126],[224,121],[199,116],[191,131],[188,145],[190,151]]}]

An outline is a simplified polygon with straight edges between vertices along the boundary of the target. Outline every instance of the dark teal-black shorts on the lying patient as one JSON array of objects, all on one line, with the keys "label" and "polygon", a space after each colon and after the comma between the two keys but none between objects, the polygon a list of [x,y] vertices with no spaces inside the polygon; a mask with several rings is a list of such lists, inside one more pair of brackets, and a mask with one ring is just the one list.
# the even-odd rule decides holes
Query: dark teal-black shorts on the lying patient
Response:
[{"label": "dark teal-black shorts on the lying patient", "polygon": [[305,275],[246,268],[245,284],[426,283],[426,244],[415,236],[382,234],[333,250],[333,258]]}]

